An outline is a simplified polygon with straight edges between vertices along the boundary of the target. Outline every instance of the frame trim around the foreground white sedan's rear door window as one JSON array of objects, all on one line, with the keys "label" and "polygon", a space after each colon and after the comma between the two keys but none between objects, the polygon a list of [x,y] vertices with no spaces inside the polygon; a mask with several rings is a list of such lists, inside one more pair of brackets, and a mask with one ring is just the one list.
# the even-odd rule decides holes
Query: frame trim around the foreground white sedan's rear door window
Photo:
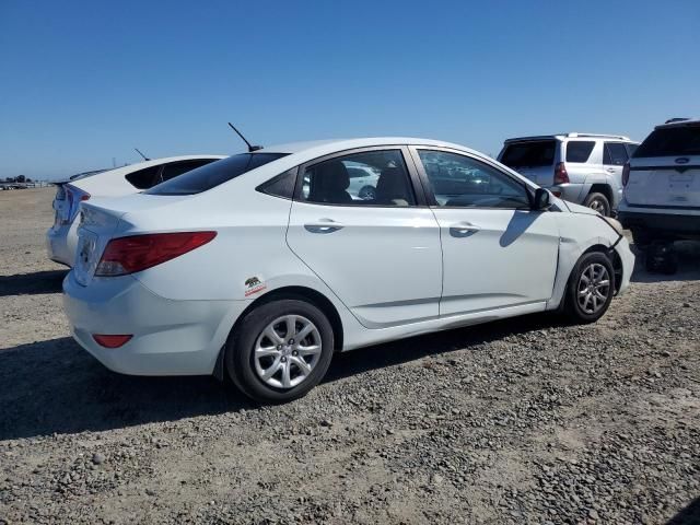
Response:
[{"label": "frame trim around the foreground white sedan's rear door window", "polygon": [[[358,153],[369,153],[373,151],[399,151],[404,156],[404,163],[406,164],[406,170],[408,171],[409,186],[413,191],[413,196],[416,197],[416,205],[410,205],[408,207],[396,207],[396,206],[386,206],[386,205],[365,205],[365,206],[347,206],[347,205],[336,205],[336,203],[327,203],[327,202],[308,202],[302,198],[302,190],[304,185],[304,173],[307,168],[320,164],[322,162],[330,161],[332,159],[338,159],[341,156],[353,155]],[[338,151],[335,153],[329,153],[324,156],[318,156],[312,161],[305,162],[298,166],[296,172],[296,185],[294,186],[294,197],[293,200],[295,202],[304,202],[307,205],[315,206],[341,206],[343,208],[387,208],[387,209],[407,209],[407,208],[425,208],[428,205],[425,191],[423,190],[423,186],[420,180],[420,176],[418,174],[418,170],[416,167],[416,163],[410,154],[410,151],[406,144],[385,144],[385,145],[369,145],[364,148],[353,148],[350,150]]]}]

